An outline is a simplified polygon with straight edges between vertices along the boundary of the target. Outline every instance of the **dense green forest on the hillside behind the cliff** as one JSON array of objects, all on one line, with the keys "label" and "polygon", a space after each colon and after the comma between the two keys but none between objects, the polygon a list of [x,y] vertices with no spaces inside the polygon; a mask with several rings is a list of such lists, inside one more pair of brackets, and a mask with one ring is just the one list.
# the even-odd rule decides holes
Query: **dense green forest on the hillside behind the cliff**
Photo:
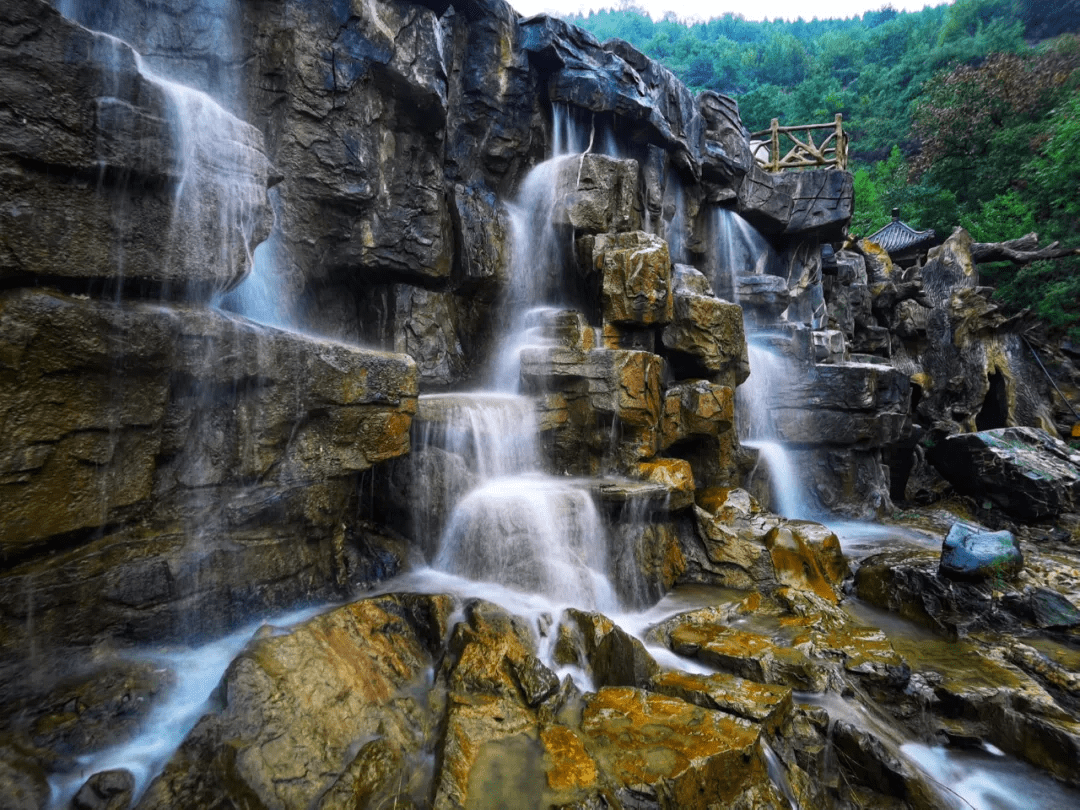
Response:
[{"label": "dense green forest on the hillside behind the cliff", "polygon": [[[943,237],[962,225],[983,242],[1037,231],[1080,246],[1080,0],[809,22],[653,22],[636,8],[568,19],[626,40],[696,91],[733,96],[752,131],[842,113],[856,235],[900,207]],[[1080,340],[1080,260],[984,271],[1000,300]]]}]

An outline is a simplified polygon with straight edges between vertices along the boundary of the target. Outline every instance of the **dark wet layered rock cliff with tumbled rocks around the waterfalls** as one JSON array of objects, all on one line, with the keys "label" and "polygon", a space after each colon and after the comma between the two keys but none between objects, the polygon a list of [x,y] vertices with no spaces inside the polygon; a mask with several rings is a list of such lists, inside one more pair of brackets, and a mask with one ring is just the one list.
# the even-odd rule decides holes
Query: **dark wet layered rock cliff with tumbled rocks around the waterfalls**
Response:
[{"label": "dark wet layered rock cliff with tumbled rocks around the waterfalls", "polygon": [[[733,99],[501,0],[59,5],[0,9],[0,798],[45,805],[46,771],[147,723],[171,676],[105,650],[435,559],[485,474],[461,392],[512,322],[498,430],[535,423],[572,489],[543,521],[598,514],[612,604],[739,594],[651,652],[447,594],[266,627],[140,798],[106,771],[75,806],[937,806],[829,694],[1076,781],[1069,659],[995,637],[943,675],[841,607],[1076,644],[1080,575],[1040,543],[1075,542],[1080,464],[1035,352],[1080,376],[989,302],[967,234],[894,267],[846,241],[846,172],[769,174]],[[851,580],[837,535],[775,514],[956,494],[1021,535],[1008,570],[905,551]]]}]

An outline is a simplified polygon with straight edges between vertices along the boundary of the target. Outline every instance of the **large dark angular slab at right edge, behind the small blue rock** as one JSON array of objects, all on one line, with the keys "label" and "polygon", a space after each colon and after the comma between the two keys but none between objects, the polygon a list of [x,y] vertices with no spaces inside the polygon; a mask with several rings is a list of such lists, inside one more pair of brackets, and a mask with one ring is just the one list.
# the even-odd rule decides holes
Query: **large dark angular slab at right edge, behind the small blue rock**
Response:
[{"label": "large dark angular slab at right edge, behind the small blue rock", "polygon": [[958,490],[1020,519],[1080,511],[1080,453],[1038,428],[949,436],[930,459]]}]

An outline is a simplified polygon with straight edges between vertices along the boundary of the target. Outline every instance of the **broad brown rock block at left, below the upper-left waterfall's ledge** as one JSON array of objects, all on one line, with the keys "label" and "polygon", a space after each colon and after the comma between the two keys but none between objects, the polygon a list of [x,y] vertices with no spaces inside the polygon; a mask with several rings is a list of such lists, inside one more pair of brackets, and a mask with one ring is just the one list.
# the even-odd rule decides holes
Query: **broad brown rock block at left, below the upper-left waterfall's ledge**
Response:
[{"label": "broad brown rock block at left, below the upper-left waterfall's ledge", "polygon": [[9,638],[188,635],[372,579],[341,521],[408,451],[410,359],[27,289],[0,322]]}]

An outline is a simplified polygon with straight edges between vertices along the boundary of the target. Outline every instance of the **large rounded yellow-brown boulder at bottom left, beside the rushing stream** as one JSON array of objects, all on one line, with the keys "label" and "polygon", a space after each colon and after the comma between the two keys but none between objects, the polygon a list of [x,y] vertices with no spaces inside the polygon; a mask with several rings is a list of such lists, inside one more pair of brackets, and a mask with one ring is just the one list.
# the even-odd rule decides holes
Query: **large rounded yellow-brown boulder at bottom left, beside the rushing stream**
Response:
[{"label": "large rounded yellow-brown boulder at bottom left, beside the rushing stream", "polygon": [[378,596],[253,642],[221,680],[220,707],[138,808],[419,797],[433,725],[423,694],[454,608],[447,596]]}]

